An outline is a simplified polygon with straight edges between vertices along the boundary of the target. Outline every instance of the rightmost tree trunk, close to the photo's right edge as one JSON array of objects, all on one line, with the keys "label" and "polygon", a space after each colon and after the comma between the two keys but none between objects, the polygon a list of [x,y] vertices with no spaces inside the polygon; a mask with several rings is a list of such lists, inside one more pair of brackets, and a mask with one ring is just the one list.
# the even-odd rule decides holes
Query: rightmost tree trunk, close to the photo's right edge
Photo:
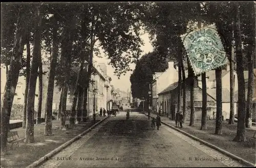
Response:
[{"label": "rightmost tree trunk, close to the photo's right edge", "polygon": [[245,127],[251,128],[252,125],[252,99],[253,99],[253,81],[254,81],[254,75],[253,75],[253,47],[249,47],[249,52],[247,54],[248,57],[248,92],[247,92],[247,105],[246,105],[246,123]]}]

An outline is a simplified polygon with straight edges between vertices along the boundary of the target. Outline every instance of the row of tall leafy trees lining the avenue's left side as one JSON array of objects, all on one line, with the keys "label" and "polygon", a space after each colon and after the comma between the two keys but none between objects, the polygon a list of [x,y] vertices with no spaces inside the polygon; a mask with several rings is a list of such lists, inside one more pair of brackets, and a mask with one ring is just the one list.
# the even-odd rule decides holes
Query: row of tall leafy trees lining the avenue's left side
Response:
[{"label": "row of tall leafy trees lining the avenue's left side", "polygon": [[[59,104],[60,129],[65,126],[68,89],[73,90],[70,123],[80,121],[86,110],[87,88],[92,74],[93,57],[101,46],[111,60],[117,76],[130,70],[129,63],[140,56],[140,25],[136,3],[5,3],[2,4],[1,63],[7,69],[7,82],[1,105],[1,154],[7,152],[7,132],[15,88],[19,75],[26,76],[24,127],[26,142],[34,142],[34,100],[39,76],[39,105],[37,123],[40,123],[42,95],[41,51],[50,61],[45,111],[45,135],[52,134],[52,101],[54,81],[61,91]],[[72,12],[70,12],[72,11]],[[24,46],[27,56],[23,56]],[[31,47],[32,46],[32,47]],[[32,55],[30,55],[32,50]],[[127,53],[127,55],[123,55]],[[72,62],[79,62],[76,76]],[[84,61],[88,71],[82,74]],[[81,82],[82,81],[82,82]],[[77,101],[78,100],[78,101]]]}]

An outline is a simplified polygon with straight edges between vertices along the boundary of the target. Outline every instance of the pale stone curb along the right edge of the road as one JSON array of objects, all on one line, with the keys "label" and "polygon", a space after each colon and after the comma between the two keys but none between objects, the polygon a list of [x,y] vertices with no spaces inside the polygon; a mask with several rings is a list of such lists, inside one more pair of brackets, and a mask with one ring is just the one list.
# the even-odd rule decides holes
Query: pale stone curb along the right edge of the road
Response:
[{"label": "pale stone curb along the right edge of the road", "polygon": [[[144,114],[145,114],[145,113],[144,113]],[[145,115],[148,116],[148,114],[145,114]],[[152,117],[152,116],[150,116],[150,117],[151,117],[151,118],[154,118],[154,117]],[[219,147],[217,147],[217,146],[215,146],[215,145],[212,145],[211,143],[206,142],[206,141],[204,141],[204,140],[202,140],[202,139],[200,139],[200,138],[198,138],[198,137],[196,137],[196,136],[193,136],[193,135],[191,135],[191,134],[188,134],[188,133],[186,133],[185,131],[182,131],[182,130],[180,130],[180,129],[178,129],[178,128],[172,126],[172,125],[169,125],[169,124],[164,123],[164,122],[161,122],[161,123],[162,123],[163,125],[166,125],[166,126],[172,128],[172,129],[176,130],[176,131],[179,131],[180,133],[185,134],[186,136],[188,136],[188,137],[190,137],[190,138],[193,138],[193,139],[195,139],[195,140],[197,140],[197,141],[203,143],[204,145],[206,145],[206,146],[208,146],[208,147],[210,147],[210,148],[213,148],[213,149],[215,149],[215,150],[221,152],[222,154],[224,154],[224,155],[226,155],[226,156],[229,156],[230,158],[232,158],[232,159],[234,159],[234,160],[237,160],[237,161],[238,161],[239,163],[241,163],[241,164],[244,164],[244,165],[246,165],[246,166],[251,166],[251,167],[254,167],[254,166],[256,165],[256,164],[253,164],[253,163],[251,163],[251,162],[249,162],[249,161],[246,161],[245,159],[243,159],[243,158],[241,158],[241,157],[239,157],[239,156],[236,156],[236,155],[234,155],[234,154],[231,154],[231,153],[229,153],[229,152],[227,152],[227,151],[225,151],[225,150],[223,150],[223,149],[221,149],[221,148],[219,148]]]}]

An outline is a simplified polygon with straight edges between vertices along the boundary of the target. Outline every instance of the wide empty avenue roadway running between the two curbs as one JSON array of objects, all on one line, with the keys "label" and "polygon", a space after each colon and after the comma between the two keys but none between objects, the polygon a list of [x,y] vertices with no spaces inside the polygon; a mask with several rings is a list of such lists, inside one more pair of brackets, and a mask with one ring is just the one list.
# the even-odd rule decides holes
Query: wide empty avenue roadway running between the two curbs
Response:
[{"label": "wide empty avenue roadway running between the two curbs", "polygon": [[40,167],[241,166],[166,126],[152,130],[144,114],[132,112],[128,121],[125,114],[106,119]]}]

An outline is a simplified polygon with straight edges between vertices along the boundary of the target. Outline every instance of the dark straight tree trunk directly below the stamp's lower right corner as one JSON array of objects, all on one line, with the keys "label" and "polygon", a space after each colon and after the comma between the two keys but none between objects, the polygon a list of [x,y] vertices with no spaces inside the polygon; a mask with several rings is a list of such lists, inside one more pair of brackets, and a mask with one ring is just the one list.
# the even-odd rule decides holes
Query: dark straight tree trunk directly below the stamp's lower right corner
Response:
[{"label": "dark straight tree trunk directly below the stamp's lower right corner", "polygon": [[222,134],[222,69],[217,68],[215,70],[216,76],[216,128],[215,134]]}]

